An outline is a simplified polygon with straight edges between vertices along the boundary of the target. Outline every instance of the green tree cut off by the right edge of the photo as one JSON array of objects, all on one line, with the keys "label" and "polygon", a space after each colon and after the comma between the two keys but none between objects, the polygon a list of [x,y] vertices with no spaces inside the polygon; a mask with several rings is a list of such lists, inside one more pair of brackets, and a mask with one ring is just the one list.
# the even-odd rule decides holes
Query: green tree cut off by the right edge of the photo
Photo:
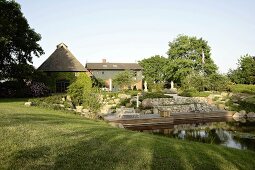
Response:
[{"label": "green tree cut off by the right edge of the photo", "polygon": [[228,72],[231,81],[240,84],[255,84],[255,57],[249,54],[243,55],[237,65],[237,69]]}]

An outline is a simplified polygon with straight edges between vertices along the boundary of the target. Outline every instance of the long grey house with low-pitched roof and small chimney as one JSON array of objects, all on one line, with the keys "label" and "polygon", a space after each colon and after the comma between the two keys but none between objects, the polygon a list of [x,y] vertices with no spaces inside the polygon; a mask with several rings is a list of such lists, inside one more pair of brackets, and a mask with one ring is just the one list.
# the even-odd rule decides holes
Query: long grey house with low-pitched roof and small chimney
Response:
[{"label": "long grey house with low-pitched roof and small chimney", "polygon": [[142,67],[137,63],[109,63],[106,62],[106,59],[103,59],[101,63],[87,63],[86,69],[96,79],[103,79],[109,91],[117,90],[117,87],[112,83],[114,76],[125,70],[131,70],[134,72],[135,83],[128,88],[137,90],[143,89]]}]

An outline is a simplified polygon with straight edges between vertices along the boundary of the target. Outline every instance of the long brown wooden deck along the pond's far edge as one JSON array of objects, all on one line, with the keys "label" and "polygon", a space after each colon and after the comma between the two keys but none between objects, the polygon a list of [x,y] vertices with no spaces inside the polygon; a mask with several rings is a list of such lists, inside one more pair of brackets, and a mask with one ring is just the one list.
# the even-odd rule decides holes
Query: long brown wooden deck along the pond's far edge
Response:
[{"label": "long brown wooden deck along the pond's far edge", "polygon": [[200,113],[173,113],[170,117],[160,117],[159,115],[143,115],[140,118],[117,118],[115,116],[106,117],[105,120],[112,123],[122,124],[124,128],[130,130],[155,130],[170,129],[177,124],[218,122],[232,119],[232,112],[200,112]]}]

